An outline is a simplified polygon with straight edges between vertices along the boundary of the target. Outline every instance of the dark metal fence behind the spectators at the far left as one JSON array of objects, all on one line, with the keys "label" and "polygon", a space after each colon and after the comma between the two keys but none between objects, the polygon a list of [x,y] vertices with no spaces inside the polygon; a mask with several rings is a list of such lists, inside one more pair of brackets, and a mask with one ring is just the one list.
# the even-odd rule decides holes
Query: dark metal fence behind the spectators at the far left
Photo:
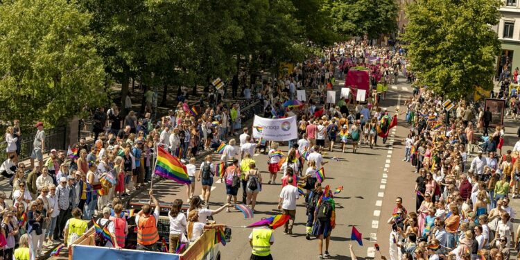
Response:
[{"label": "dark metal fence behind the spectators at the far left", "polygon": [[[45,151],[49,152],[51,149],[67,149],[65,145],[67,144],[67,127],[59,126],[57,128],[45,129]],[[21,150],[19,155],[19,161],[23,161],[25,159],[29,159],[31,157],[31,153],[33,151],[33,141],[36,132],[31,133],[31,135],[23,135],[21,136]],[[7,159],[7,142],[0,142],[0,160],[3,162]]]}]

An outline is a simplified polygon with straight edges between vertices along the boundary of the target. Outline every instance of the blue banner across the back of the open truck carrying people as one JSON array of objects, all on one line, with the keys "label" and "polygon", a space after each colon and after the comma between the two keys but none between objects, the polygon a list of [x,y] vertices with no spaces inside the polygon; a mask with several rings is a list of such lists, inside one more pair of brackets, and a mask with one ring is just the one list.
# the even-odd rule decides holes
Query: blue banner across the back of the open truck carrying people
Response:
[{"label": "blue banner across the back of the open truck carrying people", "polygon": [[176,254],[137,250],[116,250],[90,245],[73,245],[72,260],[85,259],[132,259],[132,260],[179,260]]}]

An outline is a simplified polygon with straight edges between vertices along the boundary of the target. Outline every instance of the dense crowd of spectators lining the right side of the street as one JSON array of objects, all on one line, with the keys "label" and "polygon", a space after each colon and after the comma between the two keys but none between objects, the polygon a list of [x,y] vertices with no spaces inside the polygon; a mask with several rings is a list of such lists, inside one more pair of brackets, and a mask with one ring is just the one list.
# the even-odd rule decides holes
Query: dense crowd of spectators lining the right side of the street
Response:
[{"label": "dense crowd of spectators lining the right side of the street", "polygon": [[519,192],[520,145],[502,150],[504,128],[489,130],[489,107],[461,99],[446,121],[443,101],[416,87],[405,103],[403,161],[418,174],[416,205],[407,210],[396,199],[390,259],[509,259],[520,242],[510,206]]}]

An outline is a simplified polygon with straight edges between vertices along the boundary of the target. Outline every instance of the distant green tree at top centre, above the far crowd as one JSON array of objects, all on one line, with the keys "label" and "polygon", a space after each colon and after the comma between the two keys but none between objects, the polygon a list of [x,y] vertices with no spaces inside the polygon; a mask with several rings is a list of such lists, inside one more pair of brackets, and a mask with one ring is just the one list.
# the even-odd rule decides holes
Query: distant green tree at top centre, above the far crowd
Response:
[{"label": "distant green tree at top centre, above the far crowd", "polygon": [[399,6],[395,0],[327,0],[322,8],[333,19],[333,30],[345,36],[371,39],[397,30]]}]

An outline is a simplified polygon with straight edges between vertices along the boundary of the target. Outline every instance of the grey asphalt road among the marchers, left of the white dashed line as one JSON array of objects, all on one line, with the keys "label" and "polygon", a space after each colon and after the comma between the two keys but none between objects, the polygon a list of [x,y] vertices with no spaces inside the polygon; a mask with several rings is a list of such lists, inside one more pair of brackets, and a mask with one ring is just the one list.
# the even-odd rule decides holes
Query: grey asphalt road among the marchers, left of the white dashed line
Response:
[{"label": "grey asphalt road among the marchers, left of the white dashed line", "polygon": [[[339,84],[342,84],[342,82],[340,81],[338,86]],[[336,87],[337,90],[339,90],[338,86]],[[401,85],[398,86],[398,91],[403,91]],[[399,96],[396,93],[389,93],[386,100],[383,101],[383,105],[397,105]],[[393,111],[390,107],[389,110]],[[389,139],[389,141],[392,140]],[[358,245],[354,247],[357,256],[360,258],[373,256],[373,252],[367,251],[373,246],[373,243],[370,242],[370,236],[375,237],[378,228],[377,223],[381,207],[376,206],[376,203],[379,203],[378,201],[381,201],[381,198],[384,196],[385,183],[382,183],[381,179],[384,169],[388,167],[389,163],[388,150],[392,149],[389,145],[390,143],[387,143],[387,146],[381,146],[381,139],[379,144],[380,146],[376,146],[374,149],[362,146],[358,148],[357,154],[351,153],[352,148],[349,149],[348,153],[338,153],[337,151],[340,148],[336,146],[336,151],[324,156],[326,160],[330,161],[329,164],[324,166],[325,175],[327,176],[325,183],[329,184],[332,189],[340,185],[344,186],[343,192],[336,196],[337,226],[331,235],[329,248],[331,259],[349,258],[348,243],[350,243],[352,225],[355,225],[359,232],[363,234],[363,247]],[[287,147],[284,146],[282,150],[287,150]],[[331,159],[332,157],[339,157],[340,162]],[[214,159],[218,159],[218,157],[215,155]],[[267,156],[254,155],[254,159],[257,161],[257,166],[259,166],[264,179],[267,179]],[[280,177],[281,174],[279,174],[278,180]],[[157,184],[155,191],[157,198],[162,202],[170,203],[179,197],[186,200],[184,187],[180,187],[171,181]],[[254,220],[245,220],[243,214],[239,211],[231,213],[222,212],[216,215],[215,219],[218,223],[226,223],[228,225],[248,225],[262,217],[279,214],[277,201],[280,191],[280,184],[263,184],[263,190],[257,198],[258,203],[255,208]],[[197,183],[196,194],[200,194],[200,183]],[[241,191],[239,191],[240,196]],[[210,208],[216,209],[219,205],[223,205],[225,197],[224,184],[215,183],[211,192],[210,202],[212,203]],[[275,259],[318,258],[318,241],[315,239],[307,241],[305,239],[306,219],[304,200],[300,198],[297,205],[293,234],[286,235],[281,228],[275,232],[275,244],[272,246],[272,255]],[[249,259],[250,245],[248,235],[250,231],[251,229],[233,228],[232,242],[221,248],[223,259]],[[354,244],[356,244],[355,241]]]}]

